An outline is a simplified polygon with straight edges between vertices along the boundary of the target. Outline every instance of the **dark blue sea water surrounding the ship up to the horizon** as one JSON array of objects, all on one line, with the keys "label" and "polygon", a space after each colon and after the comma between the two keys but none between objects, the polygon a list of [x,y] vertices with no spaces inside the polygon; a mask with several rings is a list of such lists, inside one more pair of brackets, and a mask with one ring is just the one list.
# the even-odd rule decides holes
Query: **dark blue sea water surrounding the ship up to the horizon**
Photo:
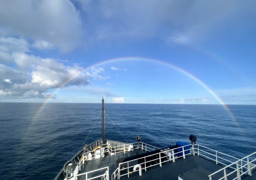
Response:
[{"label": "dark blue sea water surrounding the ship up to the horizon", "polygon": [[[81,147],[101,104],[48,103],[35,118],[40,103],[0,103],[0,176],[3,179],[53,179]],[[221,105],[105,104],[106,113],[127,141],[158,147],[197,143],[242,158],[256,151],[256,106],[229,105],[236,120]],[[86,143],[100,139],[101,118]],[[106,139],[125,142],[106,117]]]}]

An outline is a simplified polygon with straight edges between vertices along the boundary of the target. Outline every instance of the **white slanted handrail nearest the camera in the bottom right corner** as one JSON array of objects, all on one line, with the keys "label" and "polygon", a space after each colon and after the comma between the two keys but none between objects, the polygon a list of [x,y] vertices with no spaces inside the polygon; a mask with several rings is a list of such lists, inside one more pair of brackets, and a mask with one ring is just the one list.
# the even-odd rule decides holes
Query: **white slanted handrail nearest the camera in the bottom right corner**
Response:
[{"label": "white slanted handrail nearest the camera in the bottom right corner", "polygon": [[[241,175],[247,174],[247,172],[248,172],[248,175],[251,176],[251,175],[252,175],[251,170],[256,167],[256,165],[255,165],[255,164],[252,164],[252,162],[253,162],[253,161],[256,161],[256,158],[253,159],[253,161],[249,161],[249,157],[252,156],[252,155],[254,155],[254,154],[256,154],[256,152],[254,152],[254,153],[252,153],[252,154],[250,154],[250,155],[248,155],[248,156],[245,156],[245,157],[243,157],[242,159],[239,159],[238,161],[235,161],[234,163],[231,163],[230,165],[227,165],[226,167],[221,168],[220,170],[218,170],[218,171],[216,171],[216,172],[210,174],[210,175],[208,176],[209,179],[211,180],[211,177],[212,177],[214,174],[216,174],[216,173],[218,173],[218,172],[221,172],[222,170],[223,170],[223,172],[224,172],[224,176],[223,176],[221,179],[227,179],[227,176],[229,176],[230,174],[232,174],[232,173],[234,173],[234,172],[237,172],[237,177],[236,177],[235,179],[241,179]],[[245,164],[245,165],[241,165],[241,167],[239,168],[238,162],[239,162],[239,161],[243,161],[243,159],[247,159],[246,164]],[[236,164],[236,166],[237,166],[236,170],[230,172],[229,174],[226,174],[226,168],[232,168],[231,166],[232,166],[232,165],[235,165],[235,164]],[[254,166],[251,167],[251,164],[254,165]],[[242,171],[239,170],[239,169],[242,170],[242,168],[244,168],[246,165],[247,165],[247,170],[246,170],[245,172],[242,172]],[[242,174],[240,174],[240,172],[242,172]]]}]

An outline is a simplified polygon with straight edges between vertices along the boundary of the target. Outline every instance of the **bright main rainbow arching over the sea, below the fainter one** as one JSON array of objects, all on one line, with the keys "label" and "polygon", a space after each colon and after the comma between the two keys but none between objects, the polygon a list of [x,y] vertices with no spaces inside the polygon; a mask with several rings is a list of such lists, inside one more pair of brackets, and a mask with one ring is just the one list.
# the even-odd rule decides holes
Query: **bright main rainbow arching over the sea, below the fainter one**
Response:
[{"label": "bright main rainbow arching over the sea, below the fainter one", "polygon": [[58,88],[56,88],[56,90],[51,93],[51,96],[49,96],[49,98],[47,98],[45,100],[45,102],[43,102],[42,106],[38,109],[38,111],[36,112],[32,122],[37,118],[37,116],[41,113],[41,111],[44,109],[45,105],[49,102],[49,100],[51,100],[52,96],[54,94],[56,94],[62,87],[64,87],[68,82],[70,82],[71,80],[73,80],[74,78],[78,77],[79,75],[81,75],[82,73],[88,71],[89,69],[95,67],[95,66],[100,66],[103,64],[107,64],[107,63],[111,63],[111,62],[116,62],[116,61],[127,61],[127,60],[139,60],[139,61],[146,61],[146,62],[154,62],[154,63],[159,63],[159,64],[163,64],[165,66],[171,67],[181,73],[183,73],[184,75],[187,75],[188,77],[190,77],[191,79],[195,80],[196,82],[198,82],[202,87],[204,87],[207,91],[209,91],[209,93],[216,99],[218,100],[218,102],[224,107],[224,109],[228,112],[228,114],[230,114],[230,116],[232,117],[232,119],[237,123],[237,125],[239,126],[236,118],[234,117],[234,115],[232,114],[232,112],[230,111],[230,109],[227,107],[227,105],[223,102],[223,100],[221,100],[221,98],[219,98],[217,96],[217,94],[211,89],[209,88],[204,82],[202,82],[200,79],[198,79],[197,77],[195,77],[194,75],[192,75],[191,73],[185,71],[184,69],[181,69],[173,64],[170,64],[168,62],[164,62],[164,61],[160,61],[160,60],[156,60],[156,59],[151,59],[151,58],[145,58],[145,57],[121,57],[121,58],[114,58],[114,59],[109,59],[109,60],[105,60],[105,61],[101,61],[98,62],[96,64],[93,64],[91,66],[88,66],[86,69],[84,69],[83,71],[81,71],[79,74],[74,75],[73,77],[70,77],[69,79],[67,79],[65,82],[63,82]]}]

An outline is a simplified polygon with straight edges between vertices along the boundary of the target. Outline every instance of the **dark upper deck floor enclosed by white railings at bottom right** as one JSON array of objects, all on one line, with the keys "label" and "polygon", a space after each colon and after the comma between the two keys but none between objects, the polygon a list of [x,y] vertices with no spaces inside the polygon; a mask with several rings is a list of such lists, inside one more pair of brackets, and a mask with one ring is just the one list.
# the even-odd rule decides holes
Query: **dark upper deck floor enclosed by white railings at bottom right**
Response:
[{"label": "dark upper deck floor enclosed by white railings at bottom right", "polygon": [[[126,176],[122,179],[175,179],[178,177],[183,180],[209,180],[208,175],[223,168],[222,165],[216,164],[210,160],[207,160],[201,156],[187,156],[186,159],[179,158],[173,162],[165,163],[162,167],[157,166],[147,169],[147,172],[143,171],[142,176],[138,176],[138,173],[130,174],[129,178]],[[226,170],[227,174],[232,172],[231,169]],[[229,179],[234,179],[236,174],[231,174]],[[214,176],[214,179],[220,179],[223,177],[222,172],[219,172]]]}]

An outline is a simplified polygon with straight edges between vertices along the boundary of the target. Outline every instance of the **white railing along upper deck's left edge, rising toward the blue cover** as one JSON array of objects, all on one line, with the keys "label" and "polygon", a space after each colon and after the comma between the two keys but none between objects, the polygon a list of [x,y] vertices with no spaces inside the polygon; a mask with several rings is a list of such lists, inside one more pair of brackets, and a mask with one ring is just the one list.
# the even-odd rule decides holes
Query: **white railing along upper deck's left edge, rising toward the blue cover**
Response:
[{"label": "white railing along upper deck's left edge, rising toward the blue cover", "polygon": [[[147,168],[150,168],[152,166],[159,165],[161,167],[162,163],[166,163],[166,162],[169,162],[169,161],[175,162],[175,159],[177,159],[179,157],[183,157],[185,159],[185,156],[191,154],[191,150],[192,150],[192,147],[187,149],[187,150],[184,150],[184,147],[187,147],[187,146],[192,146],[192,145],[189,144],[189,145],[185,145],[185,146],[182,146],[182,147],[177,147],[177,148],[174,148],[174,149],[171,149],[171,150],[165,150],[165,151],[162,151],[162,152],[158,152],[156,154],[151,154],[149,156],[144,156],[144,157],[141,157],[141,158],[138,158],[138,159],[134,159],[134,160],[130,160],[130,161],[120,163],[119,167],[115,170],[115,171],[118,170],[118,179],[120,179],[120,177],[126,176],[126,175],[129,177],[129,174],[139,171],[139,170],[133,170],[134,166],[136,166],[136,165],[141,165],[142,166],[141,170],[147,171]],[[174,150],[179,149],[179,148],[182,148],[182,152],[174,153]],[[189,151],[189,153],[187,153],[186,151]],[[165,155],[161,155],[163,153]],[[179,154],[179,153],[182,153],[182,155],[177,156],[177,154]],[[152,157],[152,156],[155,156],[156,158],[147,160],[147,157]],[[166,158],[166,160],[164,158]],[[162,159],[164,159],[164,160],[162,161]],[[144,162],[137,164],[138,160],[139,161],[144,160]],[[149,164],[150,162],[152,162],[152,164]],[[132,171],[129,171],[129,170],[132,170]],[[126,171],[127,171],[127,173],[126,173]],[[122,173],[122,172],[124,172],[124,173]],[[112,179],[113,179],[113,176],[112,176]]]}]

